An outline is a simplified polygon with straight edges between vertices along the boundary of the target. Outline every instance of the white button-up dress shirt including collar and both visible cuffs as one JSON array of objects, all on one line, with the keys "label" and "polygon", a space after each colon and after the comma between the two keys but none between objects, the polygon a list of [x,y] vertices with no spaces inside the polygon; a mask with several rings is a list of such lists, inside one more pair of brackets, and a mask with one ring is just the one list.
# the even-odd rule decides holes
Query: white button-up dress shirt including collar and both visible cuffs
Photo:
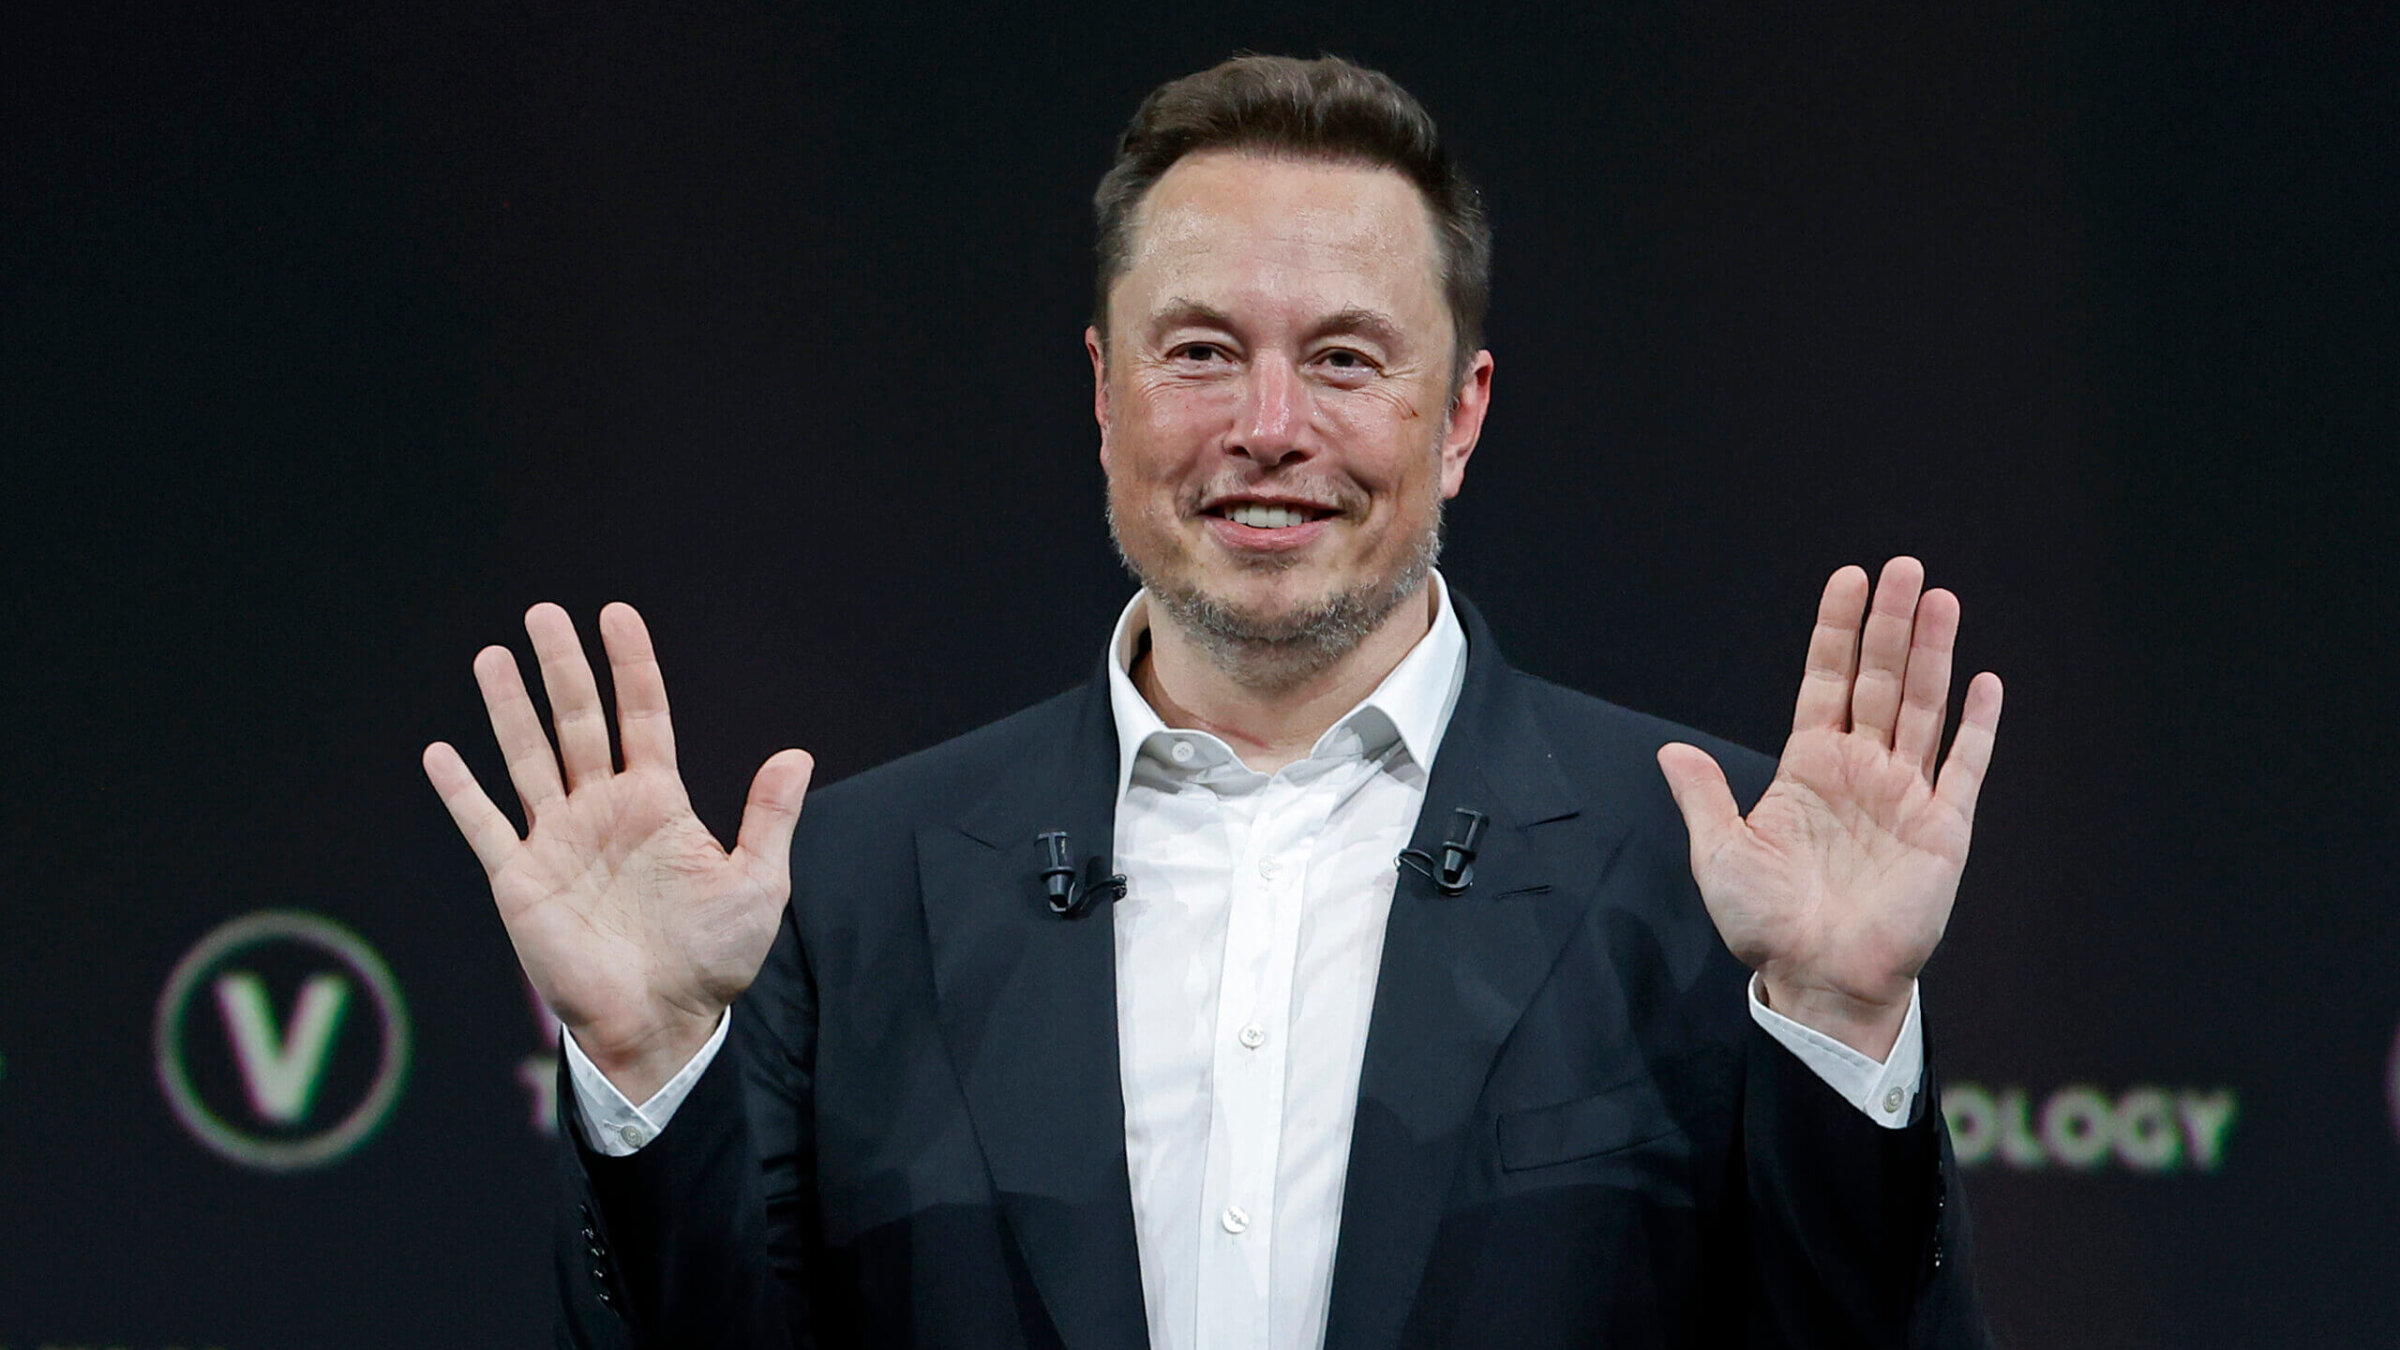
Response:
[{"label": "white button-up dress shirt including collar and both visible cuffs", "polygon": [[[1133,687],[1147,596],[1109,641],[1128,882],[1114,913],[1116,1045],[1157,1350],[1325,1343],[1394,858],[1466,680],[1440,574],[1433,605],[1433,629],[1382,685],[1274,773],[1210,733],[1169,728]],[[1908,1122],[1915,992],[1882,1064],[1764,1006],[1754,978],[1750,1014],[1877,1124]],[[626,1155],[658,1136],[727,1026],[641,1105],[566,1038],[586,1143]]]}]

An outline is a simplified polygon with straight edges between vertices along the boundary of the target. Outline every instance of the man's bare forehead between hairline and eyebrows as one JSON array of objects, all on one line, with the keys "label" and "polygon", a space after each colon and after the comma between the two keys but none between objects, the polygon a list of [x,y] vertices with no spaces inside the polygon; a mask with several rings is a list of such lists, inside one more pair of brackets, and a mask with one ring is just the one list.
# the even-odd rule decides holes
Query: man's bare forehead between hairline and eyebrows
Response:
[{"label": "man's bare forehead between hairline and eyebrows", "polygon": [[[1423,192],[1380,166],[1202,151],[1142,197],[1111,310],[1166,298],[1354,307],[1447,324]],[[1123,305],[1135,305],[1126,312]]]}]

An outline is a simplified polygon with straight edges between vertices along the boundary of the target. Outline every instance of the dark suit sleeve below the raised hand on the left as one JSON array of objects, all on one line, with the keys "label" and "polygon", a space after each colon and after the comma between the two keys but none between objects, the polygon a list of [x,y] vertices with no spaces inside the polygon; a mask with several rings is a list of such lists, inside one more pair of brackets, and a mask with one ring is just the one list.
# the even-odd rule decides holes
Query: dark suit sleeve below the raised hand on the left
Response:
[{"label": "dark suit sleeve below the raised hand on the left", "polygon": [[557,1235],[559,1345],[816,1345],[814,1074],[816,990],[785,910],[725,1052],[655,1141],[600,1155],[571,1119],[574,1093],[559,1093],[571,1196]]}]

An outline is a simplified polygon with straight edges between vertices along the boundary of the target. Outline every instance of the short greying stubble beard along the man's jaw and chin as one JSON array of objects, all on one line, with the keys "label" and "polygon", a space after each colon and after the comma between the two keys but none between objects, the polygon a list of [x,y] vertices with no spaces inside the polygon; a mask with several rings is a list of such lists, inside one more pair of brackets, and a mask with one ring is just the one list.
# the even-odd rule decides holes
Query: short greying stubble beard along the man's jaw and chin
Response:
[{"label": "short greying stubble beard along the man's jaw and chin", "polygon": [[[1433,514],[1406,543],[1397,567],[1277,613],[1246,610],[1224,596],[1212,596],[1200,586],[1195,567],[1145,567],[1126,548],[1114,500],[1109,502],[1109,543],[1116,545],[1126,572],[1150,591],[1152,603],[1193,637],[1210,665],[1248,689],[1279,692],[1332,670],[1382,627],[1392,610],[1423,591],[1426,577],[1433,574],[1433,565],[1442,555],[1442,500],[1433,500]],[[1286,569],[1291,562],[1260,562],[1255,567]]]}]

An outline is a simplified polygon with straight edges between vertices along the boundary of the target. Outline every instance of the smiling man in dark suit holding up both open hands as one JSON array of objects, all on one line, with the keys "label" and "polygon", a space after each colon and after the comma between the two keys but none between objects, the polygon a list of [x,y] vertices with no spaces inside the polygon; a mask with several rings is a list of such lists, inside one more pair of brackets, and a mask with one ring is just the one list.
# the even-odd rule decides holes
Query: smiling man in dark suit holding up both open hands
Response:
[{"label": "smiling man in dark suit holding up both open hands", "polygon": [[569,1028],[566,1338],[1980,1343],[1915,999],[1999,718],[1942,759],[1956,601],[1836,572],[1771,781],[1529,680],[1433,574],[1488,233],[1414,98],[1226,62],[1097,207],[1092,685],[806,819],[780,752],[725,853],[634,610],[617,769],[538,605],[554,754],[475,658],[528,836],[427,749]]}]

